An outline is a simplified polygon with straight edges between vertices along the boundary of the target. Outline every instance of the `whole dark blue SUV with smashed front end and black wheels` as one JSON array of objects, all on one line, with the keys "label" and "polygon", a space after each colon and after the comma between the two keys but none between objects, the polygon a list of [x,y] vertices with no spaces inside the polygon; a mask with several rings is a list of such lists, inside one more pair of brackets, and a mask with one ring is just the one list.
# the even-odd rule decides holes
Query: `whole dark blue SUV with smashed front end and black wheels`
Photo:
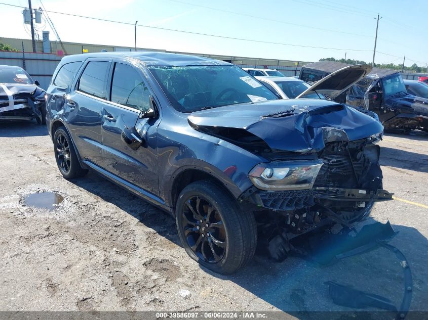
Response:
[{"label": "whole dark blue SUV with smashed front end and black wheels", "polygon": [[92,169],[171,213],[188,255],[215,272],[238,270],[257,243],[284,257],[278,236],[287,244],[352,225],[392,199],[382,189],[379,122],[328,100],[279,100],[227,62],[67,56],[47,110],[65,178]]}]

